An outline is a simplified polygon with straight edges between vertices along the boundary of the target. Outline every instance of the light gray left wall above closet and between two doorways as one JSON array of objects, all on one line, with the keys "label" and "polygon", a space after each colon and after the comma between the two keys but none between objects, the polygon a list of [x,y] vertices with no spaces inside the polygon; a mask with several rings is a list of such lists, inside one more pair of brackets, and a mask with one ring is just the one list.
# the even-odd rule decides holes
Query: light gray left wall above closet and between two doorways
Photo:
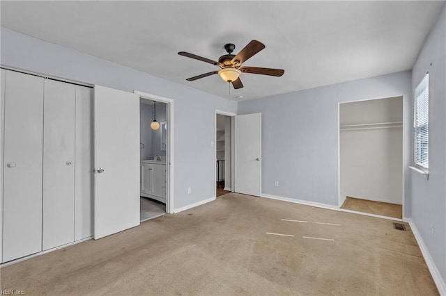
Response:
[{"label": "light gray left wall above closet and between two doorways", "polygon": [[[130,67],[1,28],[1,65],[127,92],[140,90],[175,101],[175,208],[214,196],[215,109],[237,112],[237,103]],[[224,86],[224,85],[223,85]],[[187,194],[187,187],[192,193]]]}]

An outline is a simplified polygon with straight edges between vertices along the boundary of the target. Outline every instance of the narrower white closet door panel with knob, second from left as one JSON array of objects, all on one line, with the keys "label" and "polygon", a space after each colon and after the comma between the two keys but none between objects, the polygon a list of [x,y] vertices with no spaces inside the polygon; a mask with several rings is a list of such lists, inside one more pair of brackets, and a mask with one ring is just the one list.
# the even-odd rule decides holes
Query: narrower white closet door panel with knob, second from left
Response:
[{"label": "narrower white closet door panel with knob, second from left", "polygon": [[45,80],[43,249],[75,239],[75,85]]}]

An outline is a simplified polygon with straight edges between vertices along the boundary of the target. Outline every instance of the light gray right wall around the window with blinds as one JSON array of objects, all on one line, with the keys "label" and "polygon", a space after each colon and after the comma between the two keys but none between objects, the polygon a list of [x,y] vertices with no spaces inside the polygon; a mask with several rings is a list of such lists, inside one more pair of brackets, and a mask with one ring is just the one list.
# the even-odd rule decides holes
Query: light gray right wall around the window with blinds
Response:
[{"label": "light gray right wall around the window with blinds", "polygon": [[410,106],[415,88],[428,71],[429,181],[410,173],[412,220],[446,282],[446,6],[413,66]]}]

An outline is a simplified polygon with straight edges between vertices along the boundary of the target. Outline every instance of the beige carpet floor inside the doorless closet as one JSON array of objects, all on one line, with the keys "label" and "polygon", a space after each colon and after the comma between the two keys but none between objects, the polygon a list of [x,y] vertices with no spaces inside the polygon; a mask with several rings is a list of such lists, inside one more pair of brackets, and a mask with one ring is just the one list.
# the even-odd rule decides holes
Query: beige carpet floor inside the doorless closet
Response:
[{"label": "beige carpet floor inside the doorless closet", "polygon": [[401,204],[374,202],[372,200],[358,199],[354,197],[347,197],[341,208],[398,219],[403,217],[403,206],[401,206]]}]

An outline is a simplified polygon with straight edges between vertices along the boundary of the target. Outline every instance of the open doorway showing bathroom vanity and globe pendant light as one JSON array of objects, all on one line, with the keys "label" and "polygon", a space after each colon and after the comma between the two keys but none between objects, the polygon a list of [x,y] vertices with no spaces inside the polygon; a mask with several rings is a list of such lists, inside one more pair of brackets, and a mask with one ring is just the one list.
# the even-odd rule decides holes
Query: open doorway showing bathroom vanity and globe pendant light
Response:
[{"label": "open doorway showing bathroom vanity and globe pendant light", "polygon": [[167,213],[169,182],[167,151],[169,151],[169,104],[155,99],[140,98],[140,221]]}]

